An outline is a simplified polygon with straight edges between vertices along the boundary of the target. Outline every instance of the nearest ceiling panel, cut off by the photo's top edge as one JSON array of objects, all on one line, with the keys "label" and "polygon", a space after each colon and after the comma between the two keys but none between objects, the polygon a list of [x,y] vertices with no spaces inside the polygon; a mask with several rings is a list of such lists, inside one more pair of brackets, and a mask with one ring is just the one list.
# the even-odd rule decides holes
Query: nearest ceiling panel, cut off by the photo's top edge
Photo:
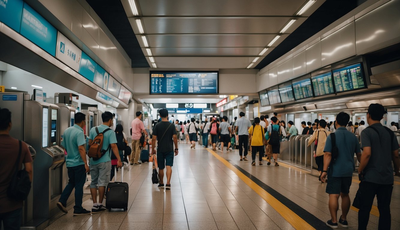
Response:
[{"label": "nearest ceiling panel, cut off by the photo's top edge", "polygon": [[307,1],[138,0],[143,16],[292,16]]}]

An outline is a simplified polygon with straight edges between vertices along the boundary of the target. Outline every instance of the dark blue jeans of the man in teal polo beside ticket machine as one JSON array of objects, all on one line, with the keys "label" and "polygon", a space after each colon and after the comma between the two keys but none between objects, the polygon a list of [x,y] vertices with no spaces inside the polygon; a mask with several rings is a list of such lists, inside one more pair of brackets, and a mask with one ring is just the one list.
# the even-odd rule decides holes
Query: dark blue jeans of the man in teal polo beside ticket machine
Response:
[{"label": "dark blue jeans of the man in teal polo beside ticket machine", "polygon": [[71,195],[72,190],[75,188],[75,206],[74,210],[80,212],[82,208],[83,186],[86,182],[86,169],[85,165],[78,165],[74,167],[67,167],[68,170],[68,184],[62,191],[60,200],[62,205],[66,206],[67,200]]}]

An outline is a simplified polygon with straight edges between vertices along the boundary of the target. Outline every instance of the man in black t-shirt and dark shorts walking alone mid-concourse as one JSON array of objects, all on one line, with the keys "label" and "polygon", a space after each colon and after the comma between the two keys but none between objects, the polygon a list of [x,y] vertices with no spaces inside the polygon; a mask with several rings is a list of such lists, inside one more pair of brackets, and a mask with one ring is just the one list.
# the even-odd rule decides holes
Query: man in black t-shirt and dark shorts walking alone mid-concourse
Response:
[{"label": "man in black t-shirt and dark shorts walking alone mid-concourse", "polygon": [[[171,189],[172,166],[174,165],[174,156],[178,155],[178,138],[176,129],[168,121],[168,110],[160,109],[161,122],[153,129],[152,137],[152,155],[157,156],[158,175],[160,178],[158,188],[166,190]],[[194,122],[192,122],[194,123]],[[157,143],[157,150],[155,149]],[[175,145],[175,149],[174,149]],[[166,169],[167,183],[164,186],[164,169]]]}]

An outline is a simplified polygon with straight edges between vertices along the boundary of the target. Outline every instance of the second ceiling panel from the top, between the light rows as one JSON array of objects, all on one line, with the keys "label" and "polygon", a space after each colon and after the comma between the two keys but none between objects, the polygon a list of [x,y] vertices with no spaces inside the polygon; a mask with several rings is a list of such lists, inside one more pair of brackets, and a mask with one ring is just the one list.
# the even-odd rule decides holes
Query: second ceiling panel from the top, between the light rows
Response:
[{"label": "second ceiling panel from the top, between the light rows", "polygon": [[[290,17],[143,18],[146,34],[276,34]],[[131,24],[134,19],[130,18]],[[299,18],[302,23],[306,18]]]}]

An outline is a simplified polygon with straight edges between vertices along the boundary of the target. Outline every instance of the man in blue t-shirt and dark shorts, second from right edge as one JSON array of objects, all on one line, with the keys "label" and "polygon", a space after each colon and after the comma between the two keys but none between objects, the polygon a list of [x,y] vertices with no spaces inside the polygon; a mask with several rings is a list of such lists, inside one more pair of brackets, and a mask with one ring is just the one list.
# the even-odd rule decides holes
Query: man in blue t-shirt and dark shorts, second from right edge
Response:
[{"label": "man in blue t-shirt and dark shorts, second from right edge", "polygon": [[[326,139],[324,148],[324,170],[321,174],[321,181],[325,182],[328,175],[326,193],[329,194],[329,212],[331,219],[326,225],[331,228],[338,228],[338,223],[347,227],[347,214],[350,209],[349,191],[352,183],[352,176],[355,170],[354,153],[360,154],[360,142],[354,133],[346,129],[350,120],[350,115],[340,112],[336,116],[336,132],[330,134]],[[334,147],[332,146],[332,136],[334,136]],[[332,151],[336,152],[336,159],[332,159]],[[337,218],[339,209],[339,196],[342,198],[342,215]]]}]

